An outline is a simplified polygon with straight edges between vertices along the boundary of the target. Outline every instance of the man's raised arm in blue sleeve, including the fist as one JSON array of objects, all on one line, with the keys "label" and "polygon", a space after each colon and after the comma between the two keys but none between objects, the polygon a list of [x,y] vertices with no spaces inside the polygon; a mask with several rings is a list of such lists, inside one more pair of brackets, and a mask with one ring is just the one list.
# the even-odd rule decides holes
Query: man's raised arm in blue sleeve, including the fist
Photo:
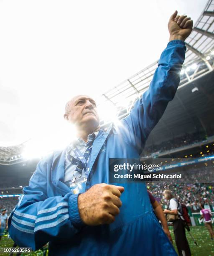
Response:
[{"label": "man's raised arm in blue sleeve, including the fist", "polygon": [[171,15],[168,22],[170,42],[161,54],[150,87],[135,102],[130,115],[122,120],[121,131],[125,140],[133,143],[139,152],[176,93],[185,59],[184,40],[191,33],[192,26],[192,20],[186,15],[179,16],[177,11]]}]

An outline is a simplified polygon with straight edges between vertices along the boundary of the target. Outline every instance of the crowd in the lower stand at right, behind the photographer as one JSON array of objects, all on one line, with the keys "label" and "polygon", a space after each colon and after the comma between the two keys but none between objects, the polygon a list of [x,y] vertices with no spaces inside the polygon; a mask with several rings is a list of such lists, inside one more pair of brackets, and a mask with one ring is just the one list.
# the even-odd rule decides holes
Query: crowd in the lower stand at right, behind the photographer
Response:
[{"label": "crowd in the lower stand at right, behind the photographer", "polygon": [[174,197],[189,207],[191,212],[198,212],[201,203],[209,205],[214,210],[214,169],[211,162],[186,168],[182,182],[175,180],[148,182],[147,188],[163,207],[168,205],[163,199],[163,191],[169,189]]}]

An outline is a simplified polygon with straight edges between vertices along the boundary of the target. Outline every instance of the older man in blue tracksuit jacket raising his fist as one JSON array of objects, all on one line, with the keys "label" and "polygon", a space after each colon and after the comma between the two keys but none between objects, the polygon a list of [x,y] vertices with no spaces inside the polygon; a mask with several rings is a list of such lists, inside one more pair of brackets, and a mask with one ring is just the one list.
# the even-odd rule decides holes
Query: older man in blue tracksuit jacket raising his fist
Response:
[{"label": "older man in blue tracksuit jacket raising his fist", "polygon": [[[176,255],[152,210],[142,183],[110,184],[110,158],[139,158],[149,133],[176,93],[192,20],[171,16],[169,43],[150,88],[119,127],[99,126],[94,100],[74,97],[64,118],[78,138],[39,162],[9,218],[19,246],[49,242],[50,255]],[[158,38],[157,38],[158,40]]]}]

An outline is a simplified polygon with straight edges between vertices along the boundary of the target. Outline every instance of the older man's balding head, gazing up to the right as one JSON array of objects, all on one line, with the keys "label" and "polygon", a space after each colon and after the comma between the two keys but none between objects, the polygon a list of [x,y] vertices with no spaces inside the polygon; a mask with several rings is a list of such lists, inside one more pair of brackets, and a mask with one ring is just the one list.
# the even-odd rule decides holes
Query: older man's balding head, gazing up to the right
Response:
[{"label": "older man's balding head, gazing up to the right", "polygon": [[69,114],[64,117],[78,126],[99,126],[99,115],[95,101],[85,95],[74,97],[69,105]]}]

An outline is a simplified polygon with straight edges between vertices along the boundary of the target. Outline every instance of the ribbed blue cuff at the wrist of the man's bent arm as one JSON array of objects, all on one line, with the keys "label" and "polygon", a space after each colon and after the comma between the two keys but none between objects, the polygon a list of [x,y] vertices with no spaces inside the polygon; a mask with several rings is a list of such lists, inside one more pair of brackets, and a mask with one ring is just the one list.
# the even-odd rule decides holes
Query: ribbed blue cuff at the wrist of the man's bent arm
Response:
[{"label": "ribbed blue cuff at the wrist of the man's bent arm", "polygon": [[85,225],[85,223],[81,220],[79,216],[79,209],[78,209],[78,196],[80,194],[70,195],[68,201],[68,208],[69,208],[69,218],[71,220],[72,225],[76,228],[81,228]]}]

